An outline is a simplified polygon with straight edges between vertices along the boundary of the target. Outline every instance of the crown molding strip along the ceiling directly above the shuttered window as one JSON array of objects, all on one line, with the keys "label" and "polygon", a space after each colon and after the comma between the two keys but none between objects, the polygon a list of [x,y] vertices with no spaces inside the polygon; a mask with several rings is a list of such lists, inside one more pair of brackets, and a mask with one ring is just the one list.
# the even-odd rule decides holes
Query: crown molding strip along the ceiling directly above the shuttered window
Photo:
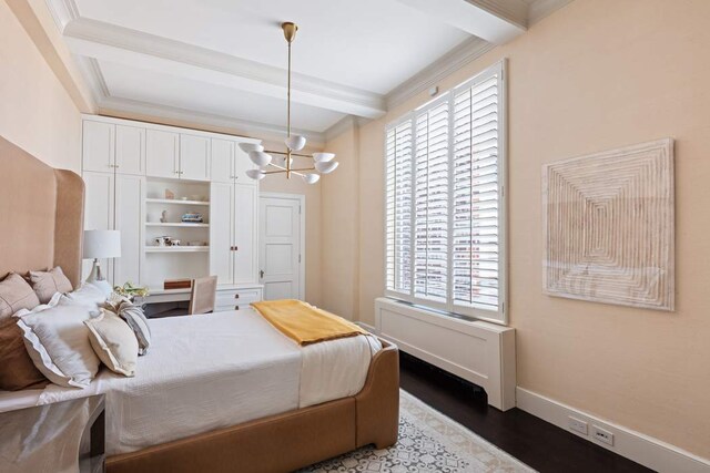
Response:
[{"label": "crown molding strip along the ceiling directly above the shuttered window", "polygon": [[402,105],[418,93],[436,85],[443,79],[480,58],[495,47],[495,44],[476,37],[464,41],[385,95],[387,110]]}]

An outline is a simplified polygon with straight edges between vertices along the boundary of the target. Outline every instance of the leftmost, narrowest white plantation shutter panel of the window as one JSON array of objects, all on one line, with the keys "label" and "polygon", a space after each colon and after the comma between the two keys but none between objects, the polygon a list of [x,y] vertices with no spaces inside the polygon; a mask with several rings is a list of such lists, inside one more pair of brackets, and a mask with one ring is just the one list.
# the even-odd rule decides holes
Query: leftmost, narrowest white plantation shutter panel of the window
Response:
[{"label": "leftmost, narrowest white plantation shutter panel of the window", "polygon": [[412,292],[412,120],[387,131],[386,288]]}]

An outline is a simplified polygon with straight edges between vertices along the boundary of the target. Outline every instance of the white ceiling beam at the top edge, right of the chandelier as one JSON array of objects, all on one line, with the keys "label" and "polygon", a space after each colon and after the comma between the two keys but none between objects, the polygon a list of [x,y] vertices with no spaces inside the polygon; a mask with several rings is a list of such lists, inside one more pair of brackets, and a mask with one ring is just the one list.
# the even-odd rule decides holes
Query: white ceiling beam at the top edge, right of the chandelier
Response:
[{"label": "white ceiling beam at the top edge, right of the chandelier", "polygon": [[504,44],[527,30],[523,0],[399,0],[428,17],[494,44]]}]

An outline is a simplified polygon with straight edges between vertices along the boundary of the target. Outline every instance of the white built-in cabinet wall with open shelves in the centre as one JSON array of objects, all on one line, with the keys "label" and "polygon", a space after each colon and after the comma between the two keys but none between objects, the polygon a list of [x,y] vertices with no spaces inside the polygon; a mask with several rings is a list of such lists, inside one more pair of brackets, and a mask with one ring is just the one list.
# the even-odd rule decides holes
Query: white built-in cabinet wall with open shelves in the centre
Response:
[{"label": "white built-in cabinet wall with open shelves in the centre", "polygon": [[[237,146],[257,141],[93,115],[83,116],[82,141],[84,228],[121,232],[121,257],[102,261],[108,279],[162,294],[164,279],[216,275],[220,309],[261,299],[258,183]],[[184,213],[204,222],[182,223]],[[159,247],[163,235],[183,244]],[[88,274],[91,261],[83,266]]]}]

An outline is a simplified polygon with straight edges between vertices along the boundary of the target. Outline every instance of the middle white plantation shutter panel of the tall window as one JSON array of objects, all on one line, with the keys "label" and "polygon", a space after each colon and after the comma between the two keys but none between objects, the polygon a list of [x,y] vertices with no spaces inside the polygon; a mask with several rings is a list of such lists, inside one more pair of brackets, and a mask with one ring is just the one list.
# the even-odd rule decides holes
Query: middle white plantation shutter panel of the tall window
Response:
[{"label": "middle white plantation shutter panel of the tall window", "polygon": [[446,304],[448,294],[448,101],[415,122],[414,296]]}]

